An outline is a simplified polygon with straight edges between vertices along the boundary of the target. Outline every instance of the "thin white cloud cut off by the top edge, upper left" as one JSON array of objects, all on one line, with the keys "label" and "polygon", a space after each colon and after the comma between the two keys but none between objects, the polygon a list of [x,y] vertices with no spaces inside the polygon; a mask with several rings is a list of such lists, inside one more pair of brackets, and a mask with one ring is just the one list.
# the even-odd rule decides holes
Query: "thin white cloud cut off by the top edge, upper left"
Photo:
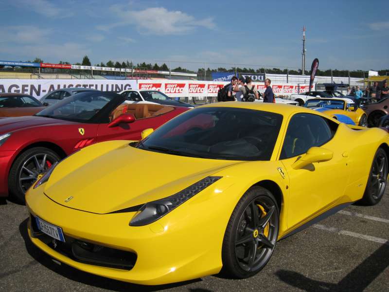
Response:
[{"label": "thin white cloud cut off by the top edge, upper left", "polygon": [[57,7],[48,0],[14,0],[12,4],[17,8],[27,8],[46,17],[65,18],[73,14],[69,10]]}]

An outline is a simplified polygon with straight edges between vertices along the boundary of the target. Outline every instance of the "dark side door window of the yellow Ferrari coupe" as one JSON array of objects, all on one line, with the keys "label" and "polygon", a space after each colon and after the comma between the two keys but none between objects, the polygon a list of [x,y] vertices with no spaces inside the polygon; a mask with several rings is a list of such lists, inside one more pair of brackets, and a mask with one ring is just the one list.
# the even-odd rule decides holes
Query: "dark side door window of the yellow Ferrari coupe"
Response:
[{"label": "dark side door window of the yellow Ferrari coupe", "polygon": [[336,128],[336,123],[316,114],[295,114],[286,130],[280,159],[295,157],[311,147],[324,145],[334,137]]}]

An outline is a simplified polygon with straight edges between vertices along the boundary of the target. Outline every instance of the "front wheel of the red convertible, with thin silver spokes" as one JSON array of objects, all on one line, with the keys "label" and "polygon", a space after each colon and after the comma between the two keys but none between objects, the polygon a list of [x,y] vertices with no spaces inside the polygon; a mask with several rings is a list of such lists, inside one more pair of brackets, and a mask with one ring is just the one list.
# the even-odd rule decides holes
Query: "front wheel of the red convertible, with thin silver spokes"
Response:
[{"label": "front wheel of the red convertible, with thin silver spokes", "polygon": [[[35,158],[40,167],[36,164]],[[60,160],[56,152],[46,147],[34,147],[22,152],[12,164],[8,176],[11,197],[18,203],[24,204],[25,192],[35,183],[38,175],[45,173],[51,165]]]}]

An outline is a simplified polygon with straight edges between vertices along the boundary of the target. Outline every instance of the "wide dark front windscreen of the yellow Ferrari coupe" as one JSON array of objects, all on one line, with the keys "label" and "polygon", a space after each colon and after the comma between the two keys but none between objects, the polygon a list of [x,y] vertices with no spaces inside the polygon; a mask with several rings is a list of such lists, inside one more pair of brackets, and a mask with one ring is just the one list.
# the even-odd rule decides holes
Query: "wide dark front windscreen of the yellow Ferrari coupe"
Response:
[{"label": "wide dark front windscreen of the yellow Ferrari coupe", "polygon": [[158,128],[139,147],[208,159],[269,160],[282,120],[282,115],[262,110],[188,110]]}]

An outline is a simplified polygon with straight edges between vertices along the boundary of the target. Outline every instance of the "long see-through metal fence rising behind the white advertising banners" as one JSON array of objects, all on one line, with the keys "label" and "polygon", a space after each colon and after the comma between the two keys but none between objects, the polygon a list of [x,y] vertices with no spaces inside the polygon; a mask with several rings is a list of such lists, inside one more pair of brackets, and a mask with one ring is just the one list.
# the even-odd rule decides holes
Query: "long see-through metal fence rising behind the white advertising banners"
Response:
[{"label": "long see-through metal fence rising behind the white advertising banners", "polygon": [[[132,63],[132,62],[131,62]],[[164,70],[157,70],[164,68]],[[131,72],[97,71],[51,68],[0,68],[1,79],[193,79],[212,80],[213,72],[265,73],[273,82],[309,83],[309,75],[301,69],[252,64],[206,63],[153,60],[138,66],[127,67]],[[167,70],[166,70],[167,69]],[[360,85],[357,81],[368,76],[365,71],[321,70],[315,77],[318,83],[346,83]]]}]

